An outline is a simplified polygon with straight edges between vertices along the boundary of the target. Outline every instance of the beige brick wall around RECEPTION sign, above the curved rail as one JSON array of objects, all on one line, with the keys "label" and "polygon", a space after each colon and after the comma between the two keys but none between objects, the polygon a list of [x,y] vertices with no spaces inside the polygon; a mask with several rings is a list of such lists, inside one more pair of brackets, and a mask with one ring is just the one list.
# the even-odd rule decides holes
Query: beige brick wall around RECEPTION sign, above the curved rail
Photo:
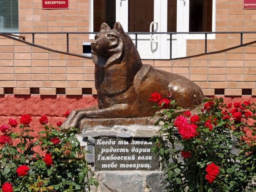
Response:
[{"label": "beige brick wall around RECEPTION sign, above the curved rail", "polygon": [[[20,32],[89,32],[90,0],[69,1],[69,9],[42,9],[42,0],[19,0]],[[32,42],[32,35],[25,36]],[[35,34],[35,44],[66,51],[66,34]],[[82,54],[85,34],[69,34],[69,52]],[[46,54],[45,54],[46,55]]]}]

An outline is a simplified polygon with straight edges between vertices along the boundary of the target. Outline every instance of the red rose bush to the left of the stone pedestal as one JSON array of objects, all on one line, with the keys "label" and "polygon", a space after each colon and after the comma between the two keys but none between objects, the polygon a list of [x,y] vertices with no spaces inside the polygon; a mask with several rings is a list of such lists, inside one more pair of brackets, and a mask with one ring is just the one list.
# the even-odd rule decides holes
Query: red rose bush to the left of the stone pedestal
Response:
[{"label": "red rose bush to the left of the stone pedestal", "polygon": [[76,129],[62,133],[48,125],[44,115],[39,119],[44,131],[36,139],[30,135],[31,121],[30,115],[22,115],[18,132],[13,131],[18,125],[15,119],[9,119],[10,127],[0,126],[0,192],[84,192],[98,185]]}]

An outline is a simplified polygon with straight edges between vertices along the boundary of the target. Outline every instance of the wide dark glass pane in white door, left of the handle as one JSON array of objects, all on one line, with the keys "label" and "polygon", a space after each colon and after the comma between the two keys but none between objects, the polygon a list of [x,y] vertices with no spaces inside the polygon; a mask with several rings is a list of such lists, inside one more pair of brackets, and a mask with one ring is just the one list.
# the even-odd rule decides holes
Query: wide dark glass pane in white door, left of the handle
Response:
[{"label": "wide dark glass pane in white door, left of the handle", "polygon": [[128,31],[148,32],[154,21],[154,0],[129,0],[128,4]]}]

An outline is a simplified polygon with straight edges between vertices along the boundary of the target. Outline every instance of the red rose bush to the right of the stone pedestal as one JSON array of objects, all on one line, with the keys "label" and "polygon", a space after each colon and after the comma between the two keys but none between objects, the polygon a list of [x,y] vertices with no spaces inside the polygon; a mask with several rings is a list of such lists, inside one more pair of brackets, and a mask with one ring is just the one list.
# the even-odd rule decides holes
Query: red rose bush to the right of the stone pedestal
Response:
[{"label": "red rose bush to the right of the stone pedestal", "polygon": [[151,150],[162,157],[166,190],[255,191],[256,104],[205,99],[191,114],[170,95],[166,99],[168,108],[157,93],[150,98],[159,109],[156,125],[161,125]]}]

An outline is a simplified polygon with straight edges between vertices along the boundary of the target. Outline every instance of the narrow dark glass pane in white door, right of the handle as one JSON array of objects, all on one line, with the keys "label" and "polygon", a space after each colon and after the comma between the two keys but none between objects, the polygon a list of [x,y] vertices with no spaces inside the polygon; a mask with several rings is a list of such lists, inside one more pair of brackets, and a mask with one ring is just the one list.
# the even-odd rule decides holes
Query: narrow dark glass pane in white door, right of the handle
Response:
[{"label": "narrow dark glass pane in white door, right of the handle", "polygon": [[168,0],[167,32],[176,32],[177,28],[177,0]]}]

